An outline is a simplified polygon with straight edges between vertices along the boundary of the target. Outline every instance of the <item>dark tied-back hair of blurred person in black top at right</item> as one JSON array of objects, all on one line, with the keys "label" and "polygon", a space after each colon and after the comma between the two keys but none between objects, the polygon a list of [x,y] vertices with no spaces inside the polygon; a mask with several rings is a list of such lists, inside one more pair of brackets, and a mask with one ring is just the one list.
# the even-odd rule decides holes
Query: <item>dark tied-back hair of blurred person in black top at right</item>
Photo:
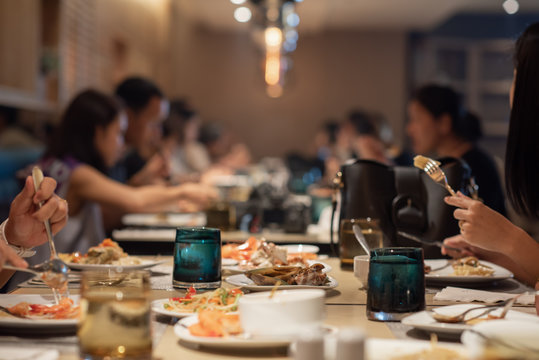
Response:
[{"label": "dark tied-back hair of blurred person in black top at right", "polygon": [[448,86],[429,84],[416,90],[412,97],[438,119],[447,114],[451,118],[451,129],[466,141],[476,142],[481,138],[480,120],[464,110],[460,96]]}]

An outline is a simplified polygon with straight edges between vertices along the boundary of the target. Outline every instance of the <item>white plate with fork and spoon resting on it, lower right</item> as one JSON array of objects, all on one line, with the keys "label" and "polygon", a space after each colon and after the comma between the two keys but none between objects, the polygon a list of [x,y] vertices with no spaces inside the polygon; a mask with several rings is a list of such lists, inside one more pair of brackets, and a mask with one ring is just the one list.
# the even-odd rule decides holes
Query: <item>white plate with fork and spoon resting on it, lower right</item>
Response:
[{"label": "white plate with fork and spoon resting on it, lower right", "polygon": [[[449,305],[449,306],[441,306],[438,308],[433,309],[435,312],[442,314],[442,315],[457,315],[460,314],[468,309],[480,307],[481,304],[458,304],[458,305]],[[480,314],[485,309],[478,309],[477,312],[471,311],[466,316],[474,316]],[[491,312],[492,315],[499,315],[502,309],[496,309],[493,312]],[[486,317],[486,316],[485,316]],[[532,314],[523,313],[516,310],[509,310],[506,315],[507,320],[522,320],[522,321],[539,321],[539,318]],[[493,321],[493,320],[489,320]],[[472,325],[467,324],[448,324],[448,323],[441,323],[436,320],[434,320],[426,311],[420,311],[418,313],[412,314],[410,316],[405,317],[401,321],[404,325],[410,325],[413,326],[416,329],[420,330],[426,330],[426,331],[432,331],[439,334],[446,334],[446,335],[458,335],[461,334],[463,331],[468,330],[472,327]]]}]

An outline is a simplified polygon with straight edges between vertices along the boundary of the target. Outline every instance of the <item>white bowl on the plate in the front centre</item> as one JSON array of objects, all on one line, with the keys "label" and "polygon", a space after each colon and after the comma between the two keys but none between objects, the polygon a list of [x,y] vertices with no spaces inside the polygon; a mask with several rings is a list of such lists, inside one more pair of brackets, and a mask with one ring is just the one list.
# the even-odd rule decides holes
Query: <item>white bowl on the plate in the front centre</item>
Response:
[{"label": "white bowl on the plate in the front centre", "polygon": [[243,331],[253,336],[295,336],[320,328],[326,293],[320,289],[247,294],[239,300]]}]

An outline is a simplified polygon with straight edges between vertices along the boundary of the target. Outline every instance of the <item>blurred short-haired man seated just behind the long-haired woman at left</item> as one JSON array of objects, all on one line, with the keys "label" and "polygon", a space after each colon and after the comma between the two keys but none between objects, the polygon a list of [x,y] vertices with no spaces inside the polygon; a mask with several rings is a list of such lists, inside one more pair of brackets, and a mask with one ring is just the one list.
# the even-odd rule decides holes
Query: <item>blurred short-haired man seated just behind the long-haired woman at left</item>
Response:
[{"label": "blurred short-haired man seated just behind the long-haired woman at left", "polygon": [[126,107],[127,151],[111,170],[111,176],[133,186],[165,184],[169,159],[160,150],[168,101],[157,85],[142,77],[122,81],[116,88],[116,96]]}]

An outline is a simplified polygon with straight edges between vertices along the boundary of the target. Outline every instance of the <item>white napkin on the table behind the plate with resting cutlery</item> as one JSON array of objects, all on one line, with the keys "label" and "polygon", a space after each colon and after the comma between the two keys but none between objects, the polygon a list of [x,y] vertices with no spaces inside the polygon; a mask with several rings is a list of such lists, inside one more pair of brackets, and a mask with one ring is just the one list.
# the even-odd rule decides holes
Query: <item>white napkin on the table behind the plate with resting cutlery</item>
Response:
[{"label": "white napkin on the table behind the plate with resting cutlery", "polygon": [[[493,291],[484,291],[484,290],[474,290],[474,289],[463,289],[458,287],[448,286],[442,291],[434,295],[434,300],[439,301],[459,301],[459,302],[472,302],[479,301],[485,303],[495,303],[498,301],[504,301],[514,297],[516,294],[502,293],[502,292],[493,292]],[[535,304],[535,294],[524,294],[520,296],[516,301],[516,304],[521,305],[533,305]]]}]

